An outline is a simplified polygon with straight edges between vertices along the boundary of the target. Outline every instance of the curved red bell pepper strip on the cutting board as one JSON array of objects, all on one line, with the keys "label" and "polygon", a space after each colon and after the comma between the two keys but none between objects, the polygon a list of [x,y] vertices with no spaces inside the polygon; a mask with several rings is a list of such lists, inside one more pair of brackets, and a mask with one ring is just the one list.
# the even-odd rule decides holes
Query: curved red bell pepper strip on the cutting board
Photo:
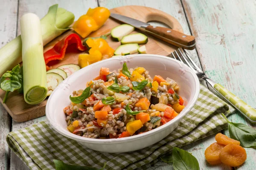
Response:
[{"label": "curved red bell pepper strip on the cutting board", "polygon": [[49,70],[49,66],[47,65],[49,61],[56,60],[56,59],[58,60],[63,59],[65,56],[67,47],[74,44],[76,44],[76,49],[78,49],[79,51],[87,50],[87,47],[82,45],[82,41],[79,35],[73,33],[73,34],[69,34],[67,37],[57,42],[51,49],[46,51],[44,53],[44,61],[45,61],[47,70]]}]

